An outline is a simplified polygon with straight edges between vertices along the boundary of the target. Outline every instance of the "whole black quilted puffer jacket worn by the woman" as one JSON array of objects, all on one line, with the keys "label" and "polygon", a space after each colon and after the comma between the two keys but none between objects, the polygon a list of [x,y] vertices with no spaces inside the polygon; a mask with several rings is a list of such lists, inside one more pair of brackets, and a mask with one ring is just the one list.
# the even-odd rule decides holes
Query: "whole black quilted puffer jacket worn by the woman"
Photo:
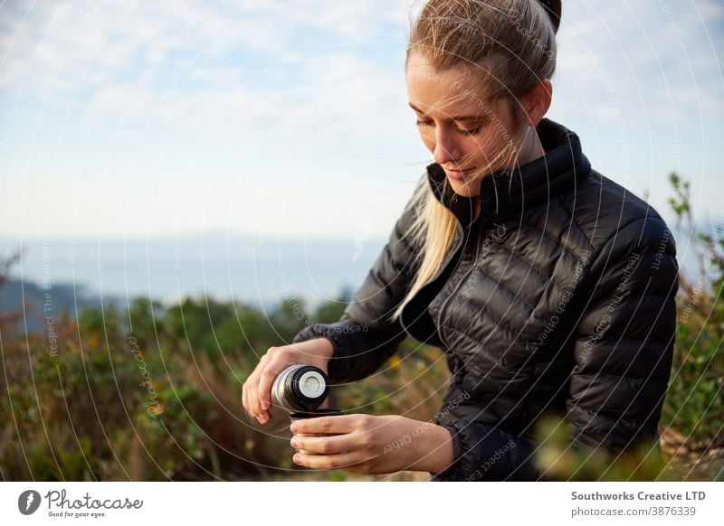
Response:
[{"label": "whole black quilted puffer jacket worn by the woman", "polygon": [[658,437],[675,334],[678,265],[659,214],[591,169],[575,133],[543,119],[543,157],[481,182],[481,213],[427,178],[460,221],[433,279],[386,316],[412,283],[414,248],[395,224],[355,300],[329,337],[335,382],[376,371],[409,334],[441,347],[452,379],[435,422],[452,433],[454,462],[433,480],[538,477],[534,422],[566,416],[574,444],[620,452]]}]

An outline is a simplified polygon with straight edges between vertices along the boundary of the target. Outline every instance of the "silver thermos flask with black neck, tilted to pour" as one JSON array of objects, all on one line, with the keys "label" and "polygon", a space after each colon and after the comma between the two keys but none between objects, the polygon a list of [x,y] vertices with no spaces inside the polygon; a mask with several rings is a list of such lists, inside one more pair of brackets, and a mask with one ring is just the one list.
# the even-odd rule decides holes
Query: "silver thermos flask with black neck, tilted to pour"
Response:
[{"label": "silver thermos flask with black neck, tilted to pour", "polygon": [[262,424],[249,411],[246,417],[252,427],[278,433],[291,424],[290,413],[314,411],[329,395],[327,375],[313,365],[290,365],[271,384],[269,420]]}]

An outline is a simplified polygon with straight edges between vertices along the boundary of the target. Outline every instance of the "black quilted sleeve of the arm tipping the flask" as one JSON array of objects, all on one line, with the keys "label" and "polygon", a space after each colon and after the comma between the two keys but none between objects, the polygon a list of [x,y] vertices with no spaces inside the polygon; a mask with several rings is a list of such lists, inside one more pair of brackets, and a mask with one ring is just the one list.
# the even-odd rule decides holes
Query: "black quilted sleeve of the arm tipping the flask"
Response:
[{"label": "black quilted sleeve of the arm tipping the flask", "polygon": [[395,223],[385,248],[376,258],[344,314],[333,324],[310,324],[292,343],[329,338],[334,353],[329,362],[329,380],[357,381],[375,372],[405,339],[399,321],[387,317],[405,298],[414,278],[414,250],[403,235],[414,221],[411,202]]}]

